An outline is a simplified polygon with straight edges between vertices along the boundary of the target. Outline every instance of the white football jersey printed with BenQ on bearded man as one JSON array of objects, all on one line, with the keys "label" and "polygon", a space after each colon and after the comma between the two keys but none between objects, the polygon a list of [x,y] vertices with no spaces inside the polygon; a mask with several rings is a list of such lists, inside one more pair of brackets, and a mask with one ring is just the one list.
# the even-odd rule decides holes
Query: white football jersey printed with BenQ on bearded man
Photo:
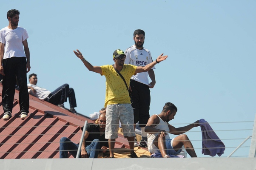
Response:
[{"label": "white football jersey printed with BenQ on bearded man", "polygon": [[[142,50],[139,50],[135,45],[132,45],[125,50],[125,55],[125,64],[145,67],[153,62],[150,51],[144,47]],[[151,69],[155,69],[155,66]],[[135,76],[133,75],[131,79],[148,85],[148,72],[137,73]]]}]

